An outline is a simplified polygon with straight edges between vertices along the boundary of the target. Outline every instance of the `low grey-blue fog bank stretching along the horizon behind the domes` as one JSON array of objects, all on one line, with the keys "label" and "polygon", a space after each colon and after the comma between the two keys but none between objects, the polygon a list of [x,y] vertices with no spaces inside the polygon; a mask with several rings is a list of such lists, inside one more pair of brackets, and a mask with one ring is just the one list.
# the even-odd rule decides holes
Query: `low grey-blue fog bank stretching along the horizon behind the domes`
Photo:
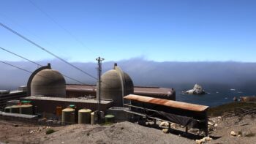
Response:
[{"label": "low grey-blue fog bank stretching along the horizon behind the domes", "polygon": [[[26,61],[10,62],[18,67],[33,72],[37,66]],[[155,62],[141,58],[132,58],[124,61],[116,61],[118,66],[127,72],[135,83],[135,86],[164,86],[180,88],[193,86],[200,83],[203,86],[215,86],[217,88],[240,88],[253,90],[256,87],[256,63],[240,62]],[[46,65],[46,61],[38,61]],[[102,64],[103,72],[113,69],[114,61]],[[94,77],[97,77],[97,63],[72,63]],[[83,83],[95,84],[96,80],[84,75],[61,61],[51,61],[53,69],[69,77],[73,77]],[[26,85],[29,73],[20,69],[1,64],[0,89],[13,89]],[[67,83],[76,83],[66,78]]]}]

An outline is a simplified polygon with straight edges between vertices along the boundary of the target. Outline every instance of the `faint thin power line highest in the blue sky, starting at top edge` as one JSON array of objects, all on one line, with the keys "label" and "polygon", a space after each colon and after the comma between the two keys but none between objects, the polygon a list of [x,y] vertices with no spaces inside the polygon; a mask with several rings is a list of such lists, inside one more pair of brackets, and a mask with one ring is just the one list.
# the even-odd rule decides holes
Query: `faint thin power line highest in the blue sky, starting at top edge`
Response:
[{"label": "faint thin power line highest in the blue sky, starting at top edge", "polygon": [[78,37],[75,37],[74,34],[72,34],[70,31],[68,31],[67,29],[65,29],[63,26],[61,26],[61,24],[59,24],[53,17],[51,17],[47,12],[45,12],[44,10],[42,10],[42,8],[38,7],[37,4],[35,4],[33,1],[29,0],[29,2],[36,7],[40,12],[42,12],[42,14],[44,14],[47,18],[49,18],[53,23],[55,23],[57,26],[59,26],[59,28],[61,28],[62,30],[64,30],[67,34],[69,34],[70,37],[72,37],[73,39],[75,39],[76,42],[80,43],[80,45],[83,46],[83,48],[86,48],[88,50],[91,51],[91,53],[94,53],[93,50],[91,50],[90,48],[88,48],[80,39],[78,39]]}]

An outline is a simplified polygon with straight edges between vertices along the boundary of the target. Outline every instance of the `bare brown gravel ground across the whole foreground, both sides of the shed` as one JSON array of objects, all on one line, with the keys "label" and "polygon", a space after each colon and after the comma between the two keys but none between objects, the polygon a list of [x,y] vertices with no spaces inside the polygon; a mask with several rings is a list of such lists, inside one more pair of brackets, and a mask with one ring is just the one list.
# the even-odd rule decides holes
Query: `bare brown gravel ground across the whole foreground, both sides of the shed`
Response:
[{"label": "bare brown gravel ground across the whole foreground, both sides of the shed", "polygon": [[[246,116],[241,121],[238,118],[210,118],[217,124],[210,132],[208,143],[255,143],[256,119]],[[56,132],[45,134],[48,129]],[[231,136],[234,131],[240,137]],[[174,132],[174,131],[173,131]],[[249,136],[248,136],[249,134]],[[140,126],[129,122],[121,122],[108,126],[100,125],[69,125],[69,126],[35,126],[0,120],[1,143],[195,143],[195,137],[165,134],[161,129]]]}]

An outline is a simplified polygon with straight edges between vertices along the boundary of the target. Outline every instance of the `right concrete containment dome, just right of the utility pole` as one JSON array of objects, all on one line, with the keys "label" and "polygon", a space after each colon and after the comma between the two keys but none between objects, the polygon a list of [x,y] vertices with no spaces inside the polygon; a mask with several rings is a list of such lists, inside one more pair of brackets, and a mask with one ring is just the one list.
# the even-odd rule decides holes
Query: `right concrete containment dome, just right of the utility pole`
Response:
[{"label": "right concrete containment dome, just right of the utility pole", "polygon": [[113,69],[105,72],[101,78],[101,99],[112,99],[115,107],[122,107],[123,97],[134,92],[131,77],[123,72],[117,64]]}]

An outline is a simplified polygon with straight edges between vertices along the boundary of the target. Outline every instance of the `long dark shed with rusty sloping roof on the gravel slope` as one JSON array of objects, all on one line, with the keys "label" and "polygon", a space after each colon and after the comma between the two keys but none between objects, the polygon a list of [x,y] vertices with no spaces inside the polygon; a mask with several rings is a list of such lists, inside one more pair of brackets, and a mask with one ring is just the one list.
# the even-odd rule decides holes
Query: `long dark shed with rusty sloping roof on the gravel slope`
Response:
[{"label": "long dark shed with rusty sloping roof on the gravel slope", "polygon": [[124,96],[129,99],[128,113],[146,115],[148,118],[160,119],[188,127],[203,129],[208,135],[208,117],[206,105],[196,105],[187,102],[176,102],[167,99],[157,99],[148,96],[129,94]]}]

